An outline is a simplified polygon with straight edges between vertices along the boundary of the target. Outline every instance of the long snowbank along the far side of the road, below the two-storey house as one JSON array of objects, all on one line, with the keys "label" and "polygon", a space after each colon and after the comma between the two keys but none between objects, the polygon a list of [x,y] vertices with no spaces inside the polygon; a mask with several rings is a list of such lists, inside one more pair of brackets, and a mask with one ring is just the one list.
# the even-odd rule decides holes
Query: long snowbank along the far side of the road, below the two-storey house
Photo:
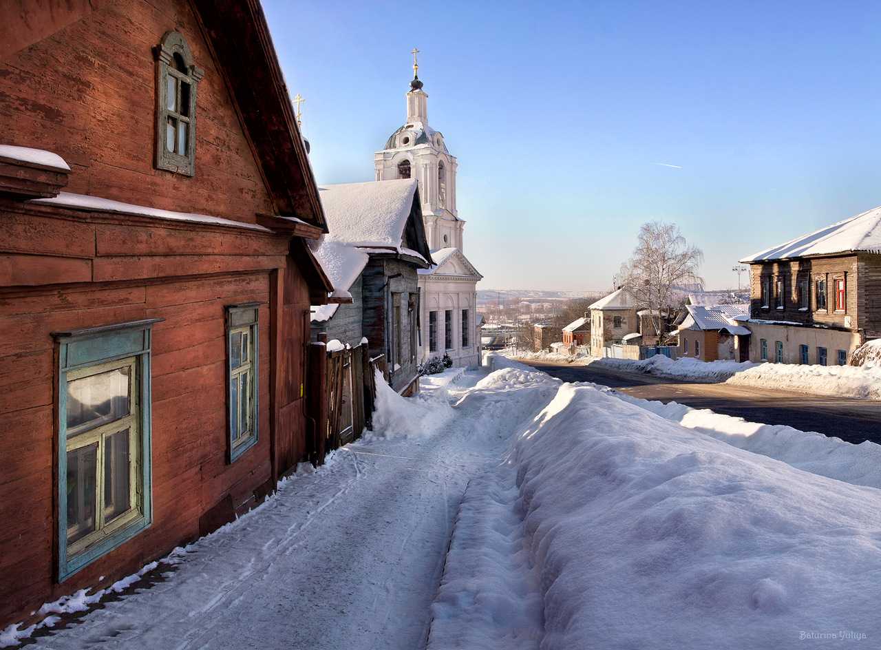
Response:
[{"label": "long snowbank along the far side of the road, below the two-storey house", "polygon": [[756,388],[778,388],[812,395],[881,399],[881,366],[803,366],[756,364],[751,361],[676,360],[656,355],[642,361],[622,358],[592,359],[590,364],[632,373],[648,373],[691,381],[725,383]]}]

